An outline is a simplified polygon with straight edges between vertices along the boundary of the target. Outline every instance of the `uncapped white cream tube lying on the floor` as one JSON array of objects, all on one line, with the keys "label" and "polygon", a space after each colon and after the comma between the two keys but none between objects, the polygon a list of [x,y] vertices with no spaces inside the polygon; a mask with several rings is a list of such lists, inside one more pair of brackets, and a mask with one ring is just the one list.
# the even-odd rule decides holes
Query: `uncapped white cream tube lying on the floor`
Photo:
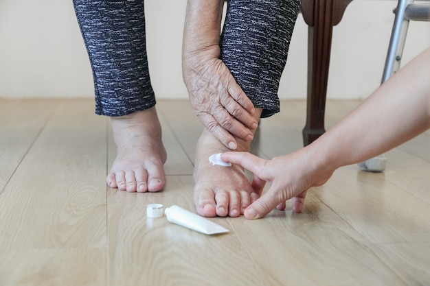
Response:
[{"label": "uncapped white cream tube lying on the floor", "polygon": [[204,233],[205,235],[228,233],[229,231],[227,228],[223,228],[223,226],[215,224],[200,215],[187,211],[180,206],[170,206],[170,208],[166,208],[164,213],[166,214],[169,222],[185,226],[185,228],[196,230],[199,233]]}]

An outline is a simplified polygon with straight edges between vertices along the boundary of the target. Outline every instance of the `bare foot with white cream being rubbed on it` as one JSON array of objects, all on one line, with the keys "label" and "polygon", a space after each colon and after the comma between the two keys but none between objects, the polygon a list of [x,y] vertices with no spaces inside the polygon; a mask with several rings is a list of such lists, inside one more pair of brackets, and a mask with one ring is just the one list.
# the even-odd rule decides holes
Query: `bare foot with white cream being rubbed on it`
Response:
[{"label": "bare foot with white cream being rubbed on it", "polygon": [[[256,108],[256,117],[261,110]],[[255,130],[254,130],[255,131]],[[237,139],[236,151],[249,151],[249,141]],[[262,190],[254,190],[245,171],[238,165],[212,165],[208,158],[215,153],[231,151],[207,129],[203,130],[196,146],[194,165],[194,204],[199,215],[238,217],[251,202],[260,197]]]}]

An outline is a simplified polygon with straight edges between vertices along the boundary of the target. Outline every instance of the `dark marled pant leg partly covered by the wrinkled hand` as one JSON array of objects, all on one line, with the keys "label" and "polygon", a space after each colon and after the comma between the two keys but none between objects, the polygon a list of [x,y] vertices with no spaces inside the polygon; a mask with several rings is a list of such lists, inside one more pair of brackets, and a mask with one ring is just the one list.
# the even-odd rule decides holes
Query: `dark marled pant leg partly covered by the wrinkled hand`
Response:
[{"label": "dark marled pant leg partly covered by the wrinkled hand", "polygon": [[280,110],[278,88],[299,0],[229,0],[221,59],[262,117]]}]

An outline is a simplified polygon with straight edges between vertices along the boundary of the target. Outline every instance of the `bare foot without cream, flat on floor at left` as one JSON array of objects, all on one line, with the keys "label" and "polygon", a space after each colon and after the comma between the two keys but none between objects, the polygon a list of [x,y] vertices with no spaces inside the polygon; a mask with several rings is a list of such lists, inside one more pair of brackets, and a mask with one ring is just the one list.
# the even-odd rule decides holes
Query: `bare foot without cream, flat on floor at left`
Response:
[{"label": "bare foot without cream, flat on floor at left", "polygon": [[161,191],[165,184],[166,149],[155,107],[111,117],[117,156],[106,182],[122,191]]}]

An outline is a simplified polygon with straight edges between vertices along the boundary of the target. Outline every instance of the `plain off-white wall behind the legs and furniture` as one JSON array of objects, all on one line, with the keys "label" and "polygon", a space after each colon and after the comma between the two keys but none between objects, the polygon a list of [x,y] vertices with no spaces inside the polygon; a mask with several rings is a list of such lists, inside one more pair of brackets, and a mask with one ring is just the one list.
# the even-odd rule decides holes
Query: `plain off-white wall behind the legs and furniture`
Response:
[{"label": "plain off-white wall behind the legs and furniture", "polygon": [[[158,98],[187,98],[181,76],[186,0],[146,0],[148,56]],[[335,27],[330,98],[367,97],[381,81],[396,5],[354,0]],[[403,63],[430,47],[430,23],[409,26]],[[299,15],[281,98],[306,97],[307,26]],[[93,97],[91,68],[71,0],[0,0],[0,97]]]}]

